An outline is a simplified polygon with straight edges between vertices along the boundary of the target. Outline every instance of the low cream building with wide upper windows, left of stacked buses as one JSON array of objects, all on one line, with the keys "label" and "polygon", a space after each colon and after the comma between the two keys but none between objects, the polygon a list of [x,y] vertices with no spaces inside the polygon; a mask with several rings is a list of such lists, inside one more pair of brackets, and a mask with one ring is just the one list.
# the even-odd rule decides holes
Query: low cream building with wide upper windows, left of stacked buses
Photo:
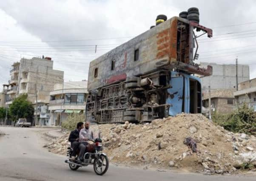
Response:
[{"label": "low cream building with wide upper windows, left of stacked buses", "polygon": [[87,94],[87,81],[55,84],[54,90],[50,92],[50,120],[45,125],[59,126],[73,112],[84,114]]}]

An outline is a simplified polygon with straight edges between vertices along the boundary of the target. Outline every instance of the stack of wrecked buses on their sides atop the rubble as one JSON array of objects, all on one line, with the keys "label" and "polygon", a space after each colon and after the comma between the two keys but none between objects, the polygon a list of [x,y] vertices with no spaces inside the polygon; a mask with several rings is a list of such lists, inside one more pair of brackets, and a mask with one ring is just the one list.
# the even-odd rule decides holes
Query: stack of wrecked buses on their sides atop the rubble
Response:
[{"label": "stack of wrecked buses on their sides atop the rubble", "polygon": [[[197,22],[172,17],[90,62],[86,117],[97,123],[148,122],[178,113],[200,113]],[[201,36],[201,35],[200,35]],[[195,49],[195,51],[194,51]]]}]

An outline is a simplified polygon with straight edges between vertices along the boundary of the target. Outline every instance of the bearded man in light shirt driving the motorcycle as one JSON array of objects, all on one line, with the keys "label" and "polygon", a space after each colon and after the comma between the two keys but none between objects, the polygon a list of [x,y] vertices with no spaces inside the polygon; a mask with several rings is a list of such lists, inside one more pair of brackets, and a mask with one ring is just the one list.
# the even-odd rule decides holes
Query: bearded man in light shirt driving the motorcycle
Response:
[{"label": "bearded man in light shirt driving the motorcycle", "polygon": [[85,154],[86,151],[86,146],[89,144],[88,141],[92,139],[92,131],[90,129],[90,122],[85,123],[85,128],[81,129],[80,134],[79,134],[79,157],[78,161],[82,162],[83,160],[83,155]]}]

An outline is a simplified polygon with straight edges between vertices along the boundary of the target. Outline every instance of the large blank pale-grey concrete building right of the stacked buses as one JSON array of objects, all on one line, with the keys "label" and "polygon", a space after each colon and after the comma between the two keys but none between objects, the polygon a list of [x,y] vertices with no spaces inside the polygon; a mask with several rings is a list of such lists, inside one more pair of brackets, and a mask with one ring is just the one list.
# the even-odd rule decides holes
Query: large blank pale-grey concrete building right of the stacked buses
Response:
[{"label": "large blank pale-grey concrete building right of the stacked buses", "polygon": [[[236,89],[236,65],[235,64],[215,64],[201,62],[200,67],[207,67],[208,65],[213,67],[213,74],[207,77],[201,78],[202,92],[210,89]],[[238,83],[248,81],[250,79],[249,66],[239,64],[237,67]]]}]

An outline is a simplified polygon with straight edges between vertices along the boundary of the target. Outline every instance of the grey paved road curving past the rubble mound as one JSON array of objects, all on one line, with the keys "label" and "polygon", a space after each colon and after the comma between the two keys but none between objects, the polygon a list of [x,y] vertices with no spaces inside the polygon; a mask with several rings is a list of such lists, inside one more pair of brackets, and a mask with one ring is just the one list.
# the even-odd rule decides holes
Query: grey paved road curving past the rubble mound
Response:
[{"label": "grey paved road curving past the rubble mound", "polygon": [[40,136],[43,128],[4,128],[0,136],[0,181],[255,181],[254,177],[157,172],[110,166],[103,176],[93,167],[68,168],[65,157],[47,152]]}]

